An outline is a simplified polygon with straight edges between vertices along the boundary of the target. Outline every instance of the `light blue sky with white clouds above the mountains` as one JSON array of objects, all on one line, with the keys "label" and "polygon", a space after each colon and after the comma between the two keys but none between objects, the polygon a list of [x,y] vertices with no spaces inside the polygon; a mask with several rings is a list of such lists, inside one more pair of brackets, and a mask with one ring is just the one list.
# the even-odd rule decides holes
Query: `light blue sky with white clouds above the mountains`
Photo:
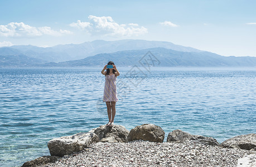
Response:
[{"label": "light blue sky with white clouds above the mountains", "polygon": [[168,41],[256,57],[256,1],[0,0],[0,47]]}]

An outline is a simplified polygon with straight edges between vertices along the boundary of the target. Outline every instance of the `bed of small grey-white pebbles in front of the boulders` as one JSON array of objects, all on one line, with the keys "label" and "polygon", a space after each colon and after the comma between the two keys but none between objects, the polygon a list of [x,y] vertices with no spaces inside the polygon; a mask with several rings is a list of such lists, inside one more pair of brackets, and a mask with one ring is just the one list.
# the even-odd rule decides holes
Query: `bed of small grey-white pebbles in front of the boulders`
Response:
[{"label": "bed of small grey-white pebbles in front of the boulders", "polygon": [[236,166],[247,150],[200,143],[94,143],[45,166]]}]

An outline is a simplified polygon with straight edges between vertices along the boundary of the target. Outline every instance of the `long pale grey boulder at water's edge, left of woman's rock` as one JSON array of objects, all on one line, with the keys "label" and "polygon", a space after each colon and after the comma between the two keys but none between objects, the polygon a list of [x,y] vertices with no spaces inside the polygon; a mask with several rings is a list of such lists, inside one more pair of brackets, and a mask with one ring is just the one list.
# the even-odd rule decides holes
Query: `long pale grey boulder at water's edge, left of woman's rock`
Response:
[{"label": "long pale grey boulder at water's edge, left of woman's rock", "polygon": [[91,143],[99,141],[99,137],[90,132],[80,132],[73,136],[63,136],[52,139],[48,143],[51,155],[64,156],[87,148]]}]

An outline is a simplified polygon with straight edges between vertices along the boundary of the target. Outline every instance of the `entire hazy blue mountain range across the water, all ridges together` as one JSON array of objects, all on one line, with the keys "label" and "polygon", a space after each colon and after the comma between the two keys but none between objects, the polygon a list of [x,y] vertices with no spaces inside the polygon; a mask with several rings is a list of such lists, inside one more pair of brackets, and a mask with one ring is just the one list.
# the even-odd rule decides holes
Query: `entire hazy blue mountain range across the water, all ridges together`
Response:
[{"label": "entire hazy blue mountain range across the water, all ridges together", "polygon": [[118,66],[256,67],[256,57],[220,56],[161,41],[97,40],[47,48],[31,45],[0,48],[0,67],[104,66],[108,61]]}]

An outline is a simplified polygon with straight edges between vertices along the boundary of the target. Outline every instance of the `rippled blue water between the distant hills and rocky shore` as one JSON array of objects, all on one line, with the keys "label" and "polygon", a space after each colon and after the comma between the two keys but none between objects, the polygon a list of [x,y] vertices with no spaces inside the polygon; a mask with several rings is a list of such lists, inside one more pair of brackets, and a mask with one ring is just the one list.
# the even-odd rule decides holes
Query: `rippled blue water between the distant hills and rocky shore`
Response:
[{"label": "rippled blue water between the distant hills and rocky shore", "polygon": [[[0,166],[50,155],[49,140],[106,124],[101,70],[0,69]],[[156,124],[165,141],[175,129],[219,143],[256,132],[255,68],[133,70],[119,69],[115,124]]]}]

